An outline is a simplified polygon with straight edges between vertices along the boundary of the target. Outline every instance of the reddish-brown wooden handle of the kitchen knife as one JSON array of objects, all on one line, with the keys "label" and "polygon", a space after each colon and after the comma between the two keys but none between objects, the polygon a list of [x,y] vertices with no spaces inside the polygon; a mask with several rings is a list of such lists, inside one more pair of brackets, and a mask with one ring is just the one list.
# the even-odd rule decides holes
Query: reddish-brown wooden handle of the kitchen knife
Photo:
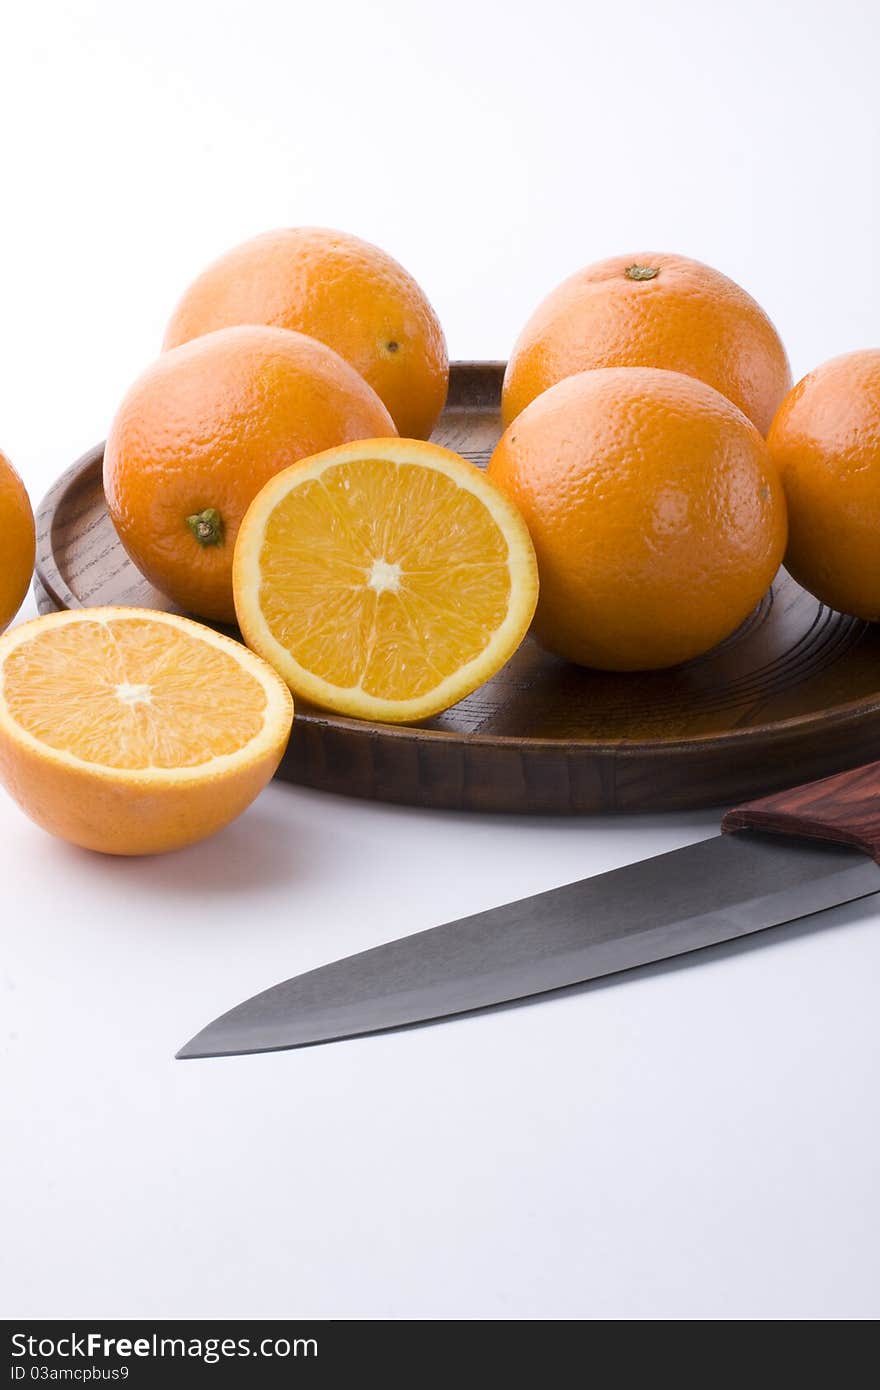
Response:
[{"label": "reddish-brown wooden handle of the kitchen knife", "polygon": [[855,845],[880,863],[880,763],[836,773],[728,810],[722,831],[767,830]]}]

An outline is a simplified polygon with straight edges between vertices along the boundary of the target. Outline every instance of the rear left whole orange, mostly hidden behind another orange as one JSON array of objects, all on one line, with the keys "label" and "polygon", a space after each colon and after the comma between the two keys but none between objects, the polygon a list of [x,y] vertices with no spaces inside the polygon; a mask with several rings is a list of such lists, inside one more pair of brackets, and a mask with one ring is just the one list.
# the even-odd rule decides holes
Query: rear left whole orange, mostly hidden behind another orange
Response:
[{"label": "rear left whole orange, mostly hidden behind another orange", "polygon": [[413,277],[357,236],[291,227],[236,246],[189,286],[164,345],[231,324],[274,324],[329,343],[409,439],[427,439],[443,409],[449,360],[439,320]]}]

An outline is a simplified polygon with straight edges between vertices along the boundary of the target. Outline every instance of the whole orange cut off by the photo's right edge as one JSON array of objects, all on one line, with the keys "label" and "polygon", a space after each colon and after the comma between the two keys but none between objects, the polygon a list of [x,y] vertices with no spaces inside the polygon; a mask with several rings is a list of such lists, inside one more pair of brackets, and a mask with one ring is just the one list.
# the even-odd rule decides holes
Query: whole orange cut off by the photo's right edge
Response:
[{"label": "whole orange cut off by the photo's right edge", "polygon": [[785,567],[830,607],[880,620],[880,349],[810,371],[767,435],[788,499]]}]

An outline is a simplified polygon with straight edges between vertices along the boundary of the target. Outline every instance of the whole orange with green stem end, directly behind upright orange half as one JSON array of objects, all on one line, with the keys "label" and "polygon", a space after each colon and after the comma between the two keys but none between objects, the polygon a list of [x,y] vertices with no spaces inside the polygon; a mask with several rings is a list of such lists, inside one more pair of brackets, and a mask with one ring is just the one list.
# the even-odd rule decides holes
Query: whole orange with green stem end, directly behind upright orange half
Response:
[{"label": "whole orange with green stem end, directly behind upright orange half", "polygon": [[307,455],[393,434],[373,388],[325,343],[224,328],[164,353],[125,396],[104,449],[107,506],[163,594],[234,623],[235,537],[263,484]]}]

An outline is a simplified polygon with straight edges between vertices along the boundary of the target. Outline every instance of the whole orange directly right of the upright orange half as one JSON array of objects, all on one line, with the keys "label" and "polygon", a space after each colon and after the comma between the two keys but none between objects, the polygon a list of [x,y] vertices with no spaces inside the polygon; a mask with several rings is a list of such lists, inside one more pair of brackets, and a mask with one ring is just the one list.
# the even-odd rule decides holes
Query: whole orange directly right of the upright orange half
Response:
[{"label": "whole orange directly right of the upright orange half", "polygon": [[509,425],[489,477],[535,546],[535,635],[581,666],[651,670],[709,651],[758,603],[785,548],[765,441],[680,373],[569,377]]}]

